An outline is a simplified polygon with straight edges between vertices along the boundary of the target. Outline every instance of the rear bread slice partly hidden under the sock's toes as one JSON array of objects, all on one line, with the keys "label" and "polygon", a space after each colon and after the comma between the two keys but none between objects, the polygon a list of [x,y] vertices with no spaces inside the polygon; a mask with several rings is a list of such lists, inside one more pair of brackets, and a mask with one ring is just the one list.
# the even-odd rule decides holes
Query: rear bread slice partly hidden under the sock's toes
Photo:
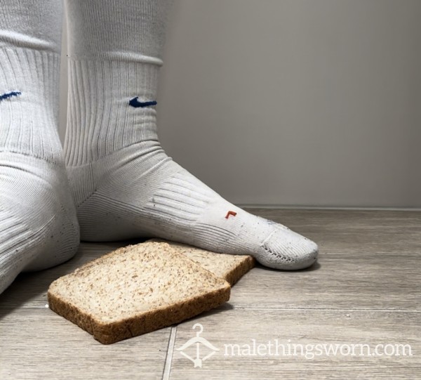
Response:
[{"label": "rear bread slice partly hidden under the sock's toes", "polygon": [[147,241],[168,243],[174,251],[196,261],[196,263],[218,277],[224,278],[231,286],[255,266],[255,258],[253,256],[217,254],[212,251],[206,251],[205,249],[192,247],[191,245],[162,239],[151,239]]}]

